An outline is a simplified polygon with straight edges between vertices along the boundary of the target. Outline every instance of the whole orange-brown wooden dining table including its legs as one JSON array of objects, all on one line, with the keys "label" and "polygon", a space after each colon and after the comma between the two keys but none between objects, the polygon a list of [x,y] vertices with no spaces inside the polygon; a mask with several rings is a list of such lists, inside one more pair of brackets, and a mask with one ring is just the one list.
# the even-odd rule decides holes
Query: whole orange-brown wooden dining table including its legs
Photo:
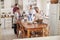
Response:
[{"label": "whole orange-brown wooden dining table including its legs", "polygon": [[[23,25],[25,27],[25,29],[27,30],[27,37],[30,38],[31,37],[31,32],[32,31],[42,31],[42,36],[45,36],[45,32],[47,31],[47,24],[46,23],[42,23],[42,24],[38,24],[38,23],[29,23],[26,21],[18,21],[19,25]],[[48,35],[48,34],[47,34]]]}]

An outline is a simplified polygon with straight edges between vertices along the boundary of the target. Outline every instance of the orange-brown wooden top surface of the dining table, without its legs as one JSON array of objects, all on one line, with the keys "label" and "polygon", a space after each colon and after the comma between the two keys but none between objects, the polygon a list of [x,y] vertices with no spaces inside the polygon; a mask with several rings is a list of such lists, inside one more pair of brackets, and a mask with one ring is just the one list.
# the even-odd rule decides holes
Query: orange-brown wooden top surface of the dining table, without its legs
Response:
[{"label": "orange-brown wooden top surface of the dining table, without its legs", "polygon": [[[18,23],[20,23],[20,21],[18,21]],[[22,22],[21,24],[26,28],[26,29],[40,29],[40,28],[46,28],[47,24],[43,23],[43,24],[28,24],[27,22]]]}]

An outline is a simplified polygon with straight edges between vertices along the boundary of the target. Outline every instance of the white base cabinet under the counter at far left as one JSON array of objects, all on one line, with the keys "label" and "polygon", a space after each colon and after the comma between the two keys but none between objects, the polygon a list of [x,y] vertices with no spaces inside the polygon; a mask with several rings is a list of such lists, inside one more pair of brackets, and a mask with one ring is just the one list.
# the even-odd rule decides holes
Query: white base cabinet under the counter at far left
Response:
[{"label": "white base cabinet under the counter at far left", "polygon": [[11,28],[12,18],[1,18],[1,28]]}]

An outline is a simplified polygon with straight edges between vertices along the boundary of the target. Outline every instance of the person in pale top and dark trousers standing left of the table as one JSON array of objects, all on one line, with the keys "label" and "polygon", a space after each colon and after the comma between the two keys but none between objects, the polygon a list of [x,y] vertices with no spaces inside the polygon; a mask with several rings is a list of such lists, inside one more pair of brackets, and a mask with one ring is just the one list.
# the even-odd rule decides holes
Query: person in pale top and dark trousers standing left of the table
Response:
[{"label": "person in pale top and dark trousers standing left of the table", "polygon": [[17,34],[17,21],[20,19],[20,9],[17,8],[16,12],[14,13],[14,33]]}]

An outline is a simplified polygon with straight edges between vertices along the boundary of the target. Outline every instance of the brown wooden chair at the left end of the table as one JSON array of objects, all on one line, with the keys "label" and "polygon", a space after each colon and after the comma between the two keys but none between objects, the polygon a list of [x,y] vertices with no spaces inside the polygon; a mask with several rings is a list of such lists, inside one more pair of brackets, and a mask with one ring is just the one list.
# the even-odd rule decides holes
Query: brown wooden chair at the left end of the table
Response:
[{"label": "brown wooden chair at the left end of the table", "polygon": [[17,37],[20,36],[19,31],[21,31],[22,38],[24,38],[27,35],[27,31],[21,23],[17,24]]}]

